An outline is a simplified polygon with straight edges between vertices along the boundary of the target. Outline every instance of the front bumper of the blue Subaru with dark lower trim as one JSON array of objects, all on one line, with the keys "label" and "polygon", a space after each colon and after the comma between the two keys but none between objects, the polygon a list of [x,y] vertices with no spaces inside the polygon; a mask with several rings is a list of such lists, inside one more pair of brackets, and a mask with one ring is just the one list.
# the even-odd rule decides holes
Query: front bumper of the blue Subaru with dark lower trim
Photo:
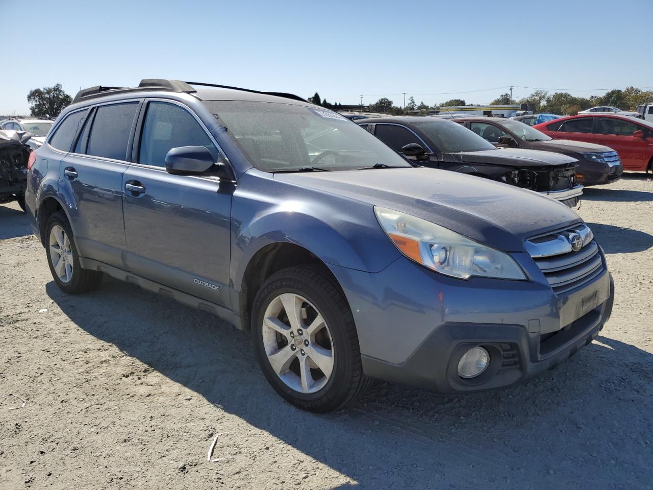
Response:
[{"label": "front bumper of the blue Subaru with dark lower trim", "polygon": [[[438,393],[506,387],[556,367],[596,338],[614,298],[607,270],[564,297],[539,280],[451,280],[403,257],[377,274],[334,273],[356,321],[365,374]],[[595,297],[599,304],[585,304]],[[573,321],[562,324],[570,311]],[[477,345],[490,353],[489,367],[460,378],[460,357]]]}]

